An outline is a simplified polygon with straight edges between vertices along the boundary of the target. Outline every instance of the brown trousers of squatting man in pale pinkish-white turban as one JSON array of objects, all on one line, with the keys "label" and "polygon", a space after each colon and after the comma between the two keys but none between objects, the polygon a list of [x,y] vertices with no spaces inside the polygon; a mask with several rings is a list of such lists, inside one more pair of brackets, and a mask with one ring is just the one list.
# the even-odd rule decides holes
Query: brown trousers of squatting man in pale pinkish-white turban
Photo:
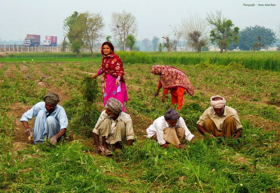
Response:
[{"label": "brown trousers of squatting man in pale pinkish-white turban", "polygon": [[204,129],[208,133],[212,133],[215,137],[224,137],[230,138],[236,132],[235,121],[232,116],[229,116],[225,119],[224,127],[222,131],[219,131],[214,124],[213,120],[208,118],[204,121]]}]

